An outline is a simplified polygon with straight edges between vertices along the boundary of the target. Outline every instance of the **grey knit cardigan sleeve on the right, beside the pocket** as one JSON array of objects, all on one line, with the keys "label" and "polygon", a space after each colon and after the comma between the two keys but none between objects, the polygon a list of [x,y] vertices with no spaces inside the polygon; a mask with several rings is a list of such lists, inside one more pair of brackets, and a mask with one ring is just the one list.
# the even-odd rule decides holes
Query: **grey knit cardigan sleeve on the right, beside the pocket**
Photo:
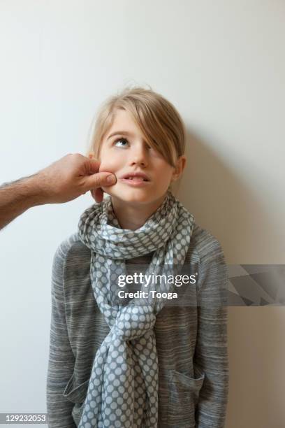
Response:
[{"label": "grey knit cardigan sleeve on the right, beside the pocket", "polygon": [[198,277],[198,332],[194,365],[205,373],[196,428],[224,428],[228,402],[228,269],[219,241],[207,234]]}]

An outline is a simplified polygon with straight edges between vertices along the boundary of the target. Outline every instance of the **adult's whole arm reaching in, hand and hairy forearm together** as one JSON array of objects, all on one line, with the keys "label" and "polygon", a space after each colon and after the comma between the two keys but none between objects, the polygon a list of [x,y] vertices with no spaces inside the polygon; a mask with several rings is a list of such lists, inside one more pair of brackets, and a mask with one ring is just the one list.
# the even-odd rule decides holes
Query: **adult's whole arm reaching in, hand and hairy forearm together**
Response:
[{"label": "adult's whole arm reaching in, hand and hairy forearm together", "polygon": [[[69,154],[32,176],[0,186],[0,229],[29,208],[71,201],[92,190],[96,202],[103,201],[101,186],[114,185],[115,174],[99,170],[96,159]],[[108,182],[111,176],[113,183]]]}]

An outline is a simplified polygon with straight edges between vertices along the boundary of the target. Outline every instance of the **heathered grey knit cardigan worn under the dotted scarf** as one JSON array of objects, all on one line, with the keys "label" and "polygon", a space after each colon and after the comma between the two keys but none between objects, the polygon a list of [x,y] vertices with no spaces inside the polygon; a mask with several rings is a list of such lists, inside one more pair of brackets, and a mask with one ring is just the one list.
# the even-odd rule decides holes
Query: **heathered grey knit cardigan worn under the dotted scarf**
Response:
[{"label": "heathered grey knit cardigan worn under the dotted scarf", "polygon": [[[152,254],[126,263],[148,264]],[[110,331],[94,299],[90,256],[75,233],[59,245],[53,259],[46,396],[50,428],[78,427],[94,356]],[[223,293],[228,270],[217,238],[197,224],[185,264],[194,265],[198,273],[197,305],[166,305],[154,325],[159,359],[158,427],[224,428],[228,312]]]}]

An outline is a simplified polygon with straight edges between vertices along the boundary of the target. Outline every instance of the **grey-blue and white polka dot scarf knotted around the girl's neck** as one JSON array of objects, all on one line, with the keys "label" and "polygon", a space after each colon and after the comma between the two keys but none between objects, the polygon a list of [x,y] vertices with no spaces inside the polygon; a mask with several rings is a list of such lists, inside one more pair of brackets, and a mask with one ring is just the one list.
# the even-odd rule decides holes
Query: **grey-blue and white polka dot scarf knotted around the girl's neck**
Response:
[{"label": "grey-blue and white polka dot scarf knotted around the girl's neck", "polygon": [[[122,288],[109,281],[110,271],[115,266],[116,274],[124,273],[124,260],[152,251],[149,273],[161,273],[163,265],[183,265],[193,223],[193,215],[169,190],[161,206],[134,231],[120,227],[110,197],[81,215],[80,240],[92,250],[94,297],[110,332],[94,357],[78,428],[157,427],[159,366],[153,327],[166,301],[150,297],[142,304],[134,298],[119,304],[118,289]],[[163,288],[159,283],[153,287],[171,291],[168,287],[174,286],[166,283]],[[145,290],[144,284],[140,290]]]}]

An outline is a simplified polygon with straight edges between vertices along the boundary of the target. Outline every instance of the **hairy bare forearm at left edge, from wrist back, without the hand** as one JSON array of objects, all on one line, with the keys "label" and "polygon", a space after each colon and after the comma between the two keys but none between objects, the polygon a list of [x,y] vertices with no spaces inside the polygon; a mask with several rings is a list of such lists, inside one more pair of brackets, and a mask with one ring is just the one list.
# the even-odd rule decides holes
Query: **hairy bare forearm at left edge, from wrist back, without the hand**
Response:
[{"label": "hairy bare forearm at left edge, from wrist back, without the hand", "polygon": [[0,186],[0,229],[32,206],[44,204],[38,173]]}]

